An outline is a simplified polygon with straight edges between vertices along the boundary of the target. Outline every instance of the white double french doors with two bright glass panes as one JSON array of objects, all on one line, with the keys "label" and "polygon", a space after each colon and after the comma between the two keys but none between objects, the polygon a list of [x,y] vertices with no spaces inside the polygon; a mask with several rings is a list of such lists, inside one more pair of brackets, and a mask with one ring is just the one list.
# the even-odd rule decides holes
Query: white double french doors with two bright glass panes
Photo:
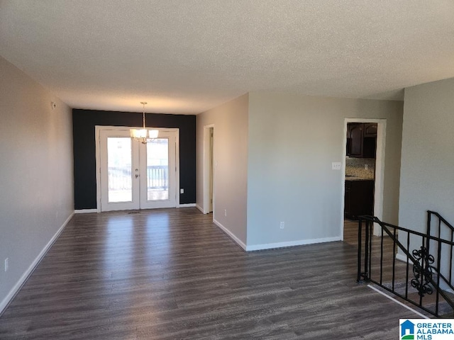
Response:
[{"label": "white double french doors with two bright glass panes", "polygon": [[177,205],[177,131],[160,130],[147,144],[129,130],[98,129],[101,211]]}]

